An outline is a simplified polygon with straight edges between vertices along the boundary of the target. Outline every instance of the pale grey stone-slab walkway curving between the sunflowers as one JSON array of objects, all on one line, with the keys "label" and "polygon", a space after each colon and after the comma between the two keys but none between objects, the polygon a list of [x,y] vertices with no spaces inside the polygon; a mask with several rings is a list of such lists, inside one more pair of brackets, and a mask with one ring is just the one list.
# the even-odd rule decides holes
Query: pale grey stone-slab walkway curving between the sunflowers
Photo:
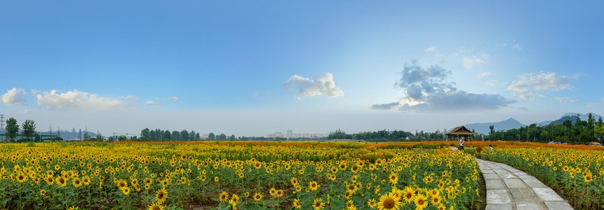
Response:
[{"label": "pale grey stone-slab walkway curving between the sunflowers", "polygon": [[[451,149],[457,151],[455,146]],[[502,163],[478,158],[476,161],[487,187],[486,210],[572,209],[558,193],[534,176]]]}]

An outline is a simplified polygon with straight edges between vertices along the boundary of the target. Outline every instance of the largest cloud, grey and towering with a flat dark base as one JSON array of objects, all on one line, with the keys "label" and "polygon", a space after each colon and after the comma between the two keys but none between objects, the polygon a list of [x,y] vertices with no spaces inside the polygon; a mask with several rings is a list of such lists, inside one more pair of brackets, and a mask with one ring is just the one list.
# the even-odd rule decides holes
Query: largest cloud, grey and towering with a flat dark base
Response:
[{"label": "largest cloud, grey and towering with a flat dark base", "polygon": [[405,97],[398,102],[373,104],[371,109],[412,111],[418,113],[439,111],[484,111],[495,110],[515,100],[506,99],[499,94],[475,94],[457,90],[455,83],[446,78],[450,71],[441,66],[432,65],[424,68],[412,61],[405,64],[401,79],[396,83],[405,92]]}]

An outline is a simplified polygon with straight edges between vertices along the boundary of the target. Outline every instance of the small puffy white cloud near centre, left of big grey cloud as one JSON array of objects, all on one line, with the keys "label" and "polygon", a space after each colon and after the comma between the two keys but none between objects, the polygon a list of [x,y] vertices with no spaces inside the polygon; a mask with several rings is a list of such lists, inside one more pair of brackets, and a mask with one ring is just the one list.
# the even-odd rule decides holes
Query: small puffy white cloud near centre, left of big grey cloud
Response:
[{"label": "small puffy white cloud near centre, left of big grey cloud", "polygon": [[283,84],[286,89],[295,88],[302,99],[303,97],[326,96],[340,97],[344,96],[344,91],[335,85],[331,73],[323,73],[314,77],[312,80],[302,76],[292,75],[286,83]]}]

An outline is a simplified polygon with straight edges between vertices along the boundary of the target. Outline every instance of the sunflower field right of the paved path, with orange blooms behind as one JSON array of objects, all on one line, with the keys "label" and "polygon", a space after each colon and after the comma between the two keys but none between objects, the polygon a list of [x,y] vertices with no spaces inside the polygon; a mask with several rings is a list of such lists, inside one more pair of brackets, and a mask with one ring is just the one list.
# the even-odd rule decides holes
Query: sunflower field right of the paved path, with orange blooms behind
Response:
[{"label": "sunflower field right of the paved path, with orange blooms behind", "polygon": [[[488,144],[494,145],[492,152]],[[467,151],[479,158],[535,176],[575,209],[604,209],[604,147],[479,141],[469,145]]]}]

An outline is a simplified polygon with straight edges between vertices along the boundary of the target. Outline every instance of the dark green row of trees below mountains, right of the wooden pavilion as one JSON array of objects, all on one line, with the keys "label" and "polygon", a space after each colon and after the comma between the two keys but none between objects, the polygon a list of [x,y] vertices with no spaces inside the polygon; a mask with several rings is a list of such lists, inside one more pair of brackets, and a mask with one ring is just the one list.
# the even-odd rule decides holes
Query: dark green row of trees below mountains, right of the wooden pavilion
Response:
[{"label": "dark green row of trees below mountains, right of the wooden pavilion", "polygon": [[495,127],[489,127],[490,132],[482,137],[474,139],[485,140],[517,140],[517,141],[561,141],[570,144],[586,144],[597,141],[598,137],[604,137],[604,122],[602,118],[595,118],[589,113],[587,120],[581,120],[580,116],[563,118],[562,123],[553,122],[546,126],[531,124],[518,129],[495,131]]}]

